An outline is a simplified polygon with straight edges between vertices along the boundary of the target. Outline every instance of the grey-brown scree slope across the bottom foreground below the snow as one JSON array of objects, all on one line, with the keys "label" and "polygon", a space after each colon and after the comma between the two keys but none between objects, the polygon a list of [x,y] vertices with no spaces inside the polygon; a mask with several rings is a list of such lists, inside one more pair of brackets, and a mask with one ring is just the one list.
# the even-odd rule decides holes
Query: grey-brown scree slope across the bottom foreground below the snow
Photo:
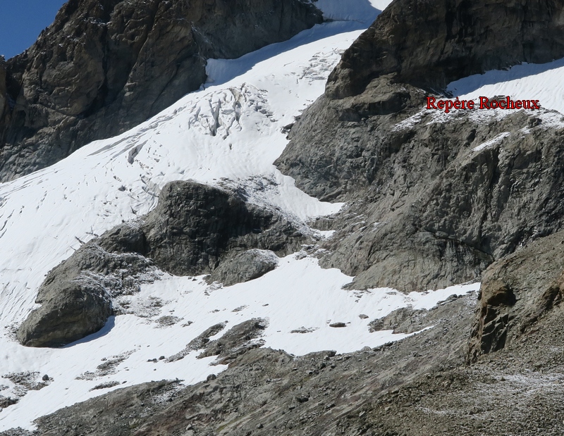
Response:
[{"label": "grey-brown scree slope across the bottom foreground below the snow", "polygon": [[[37,434],[478,436],[484,428],[503,434],[508,413],[512,434],[534,434],[530,429],[537,425],[557,435],[564,425],[552,417],[560,416],[561,403],[541,399],[538,408],[533,406],[544,392],[560,392],[559,385],[537,385],[532,396],[526,394],[531,386],[520,385],[519,395],[510,394],[519,383],[517,375],[525,374],[519,354],[503,361],[504,369],[493,363],[465,366],[474,303],[475,294],[449,301],[429,311],[434,328],[373,350],[296,357],[252,349],[213,380],[180,390],[167,382],[116,390],[39,418]],[[537,344],[536,339],[529,344]],[[555,346],[561,343],[560,337]],[[554,365],[546,380],[562,369],[561,355]],[[503,387],[501,374],[508,380],[515,374],[515,381]],[[546,418],[530,421],[541,413]]]}]

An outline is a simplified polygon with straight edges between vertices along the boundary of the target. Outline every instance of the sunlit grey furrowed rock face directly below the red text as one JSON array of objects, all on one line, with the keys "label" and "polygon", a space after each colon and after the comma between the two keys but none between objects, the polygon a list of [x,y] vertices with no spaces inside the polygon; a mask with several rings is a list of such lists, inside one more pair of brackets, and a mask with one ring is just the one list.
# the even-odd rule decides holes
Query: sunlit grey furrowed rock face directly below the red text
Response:
[{"label": "sunlit grey furrowed rock face directly below the red text", "polygon": [[356,275],[352,287],[475,280],[520,244],[562,228],[563,131],[538,116],[422,113],[400,125],[403,114],[340,122],[340,101],[315,105],[277,164],[309,194],[350,201],[331,223],[337,232],[321,265]]}]

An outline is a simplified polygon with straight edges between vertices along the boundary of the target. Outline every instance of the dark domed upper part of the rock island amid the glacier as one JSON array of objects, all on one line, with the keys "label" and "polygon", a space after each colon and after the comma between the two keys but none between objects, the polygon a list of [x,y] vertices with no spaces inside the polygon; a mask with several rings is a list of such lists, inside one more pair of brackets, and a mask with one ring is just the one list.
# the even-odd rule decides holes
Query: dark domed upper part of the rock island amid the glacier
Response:
[{"label": "dark domed upper part of the rock island amid the glacier", "polygon": [[176,275],[211,273],[221,260],[251,248],[288,254],[305,241],[276,213],[195,182],[168,183],[141,229],[142,254]]}]

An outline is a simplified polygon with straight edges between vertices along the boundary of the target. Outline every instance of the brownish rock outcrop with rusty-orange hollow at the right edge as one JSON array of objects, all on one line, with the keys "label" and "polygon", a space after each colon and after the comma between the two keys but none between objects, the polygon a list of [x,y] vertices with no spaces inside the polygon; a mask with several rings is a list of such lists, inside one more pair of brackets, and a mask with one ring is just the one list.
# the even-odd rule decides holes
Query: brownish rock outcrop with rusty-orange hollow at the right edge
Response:
[{"label": "brownish rock outcrop with rusty-orange hollow at the right edge", "polygon": [[[467,359],[498,351],[559,306],[564,293],[564,232],[538,239],[484,273]],[[560,309],[559,309],[560,310]]]}]

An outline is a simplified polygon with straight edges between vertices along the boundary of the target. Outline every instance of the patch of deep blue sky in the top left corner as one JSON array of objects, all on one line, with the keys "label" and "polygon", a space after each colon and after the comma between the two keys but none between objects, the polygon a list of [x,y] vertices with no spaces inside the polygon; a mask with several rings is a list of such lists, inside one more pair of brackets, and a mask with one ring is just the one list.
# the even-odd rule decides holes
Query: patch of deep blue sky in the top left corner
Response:
[{"label": "patch of deep blue sky in the top left corner", "polygon": [[6,59],[29,48],[53,23],[66,0],[0,0],[0,54]]}]

